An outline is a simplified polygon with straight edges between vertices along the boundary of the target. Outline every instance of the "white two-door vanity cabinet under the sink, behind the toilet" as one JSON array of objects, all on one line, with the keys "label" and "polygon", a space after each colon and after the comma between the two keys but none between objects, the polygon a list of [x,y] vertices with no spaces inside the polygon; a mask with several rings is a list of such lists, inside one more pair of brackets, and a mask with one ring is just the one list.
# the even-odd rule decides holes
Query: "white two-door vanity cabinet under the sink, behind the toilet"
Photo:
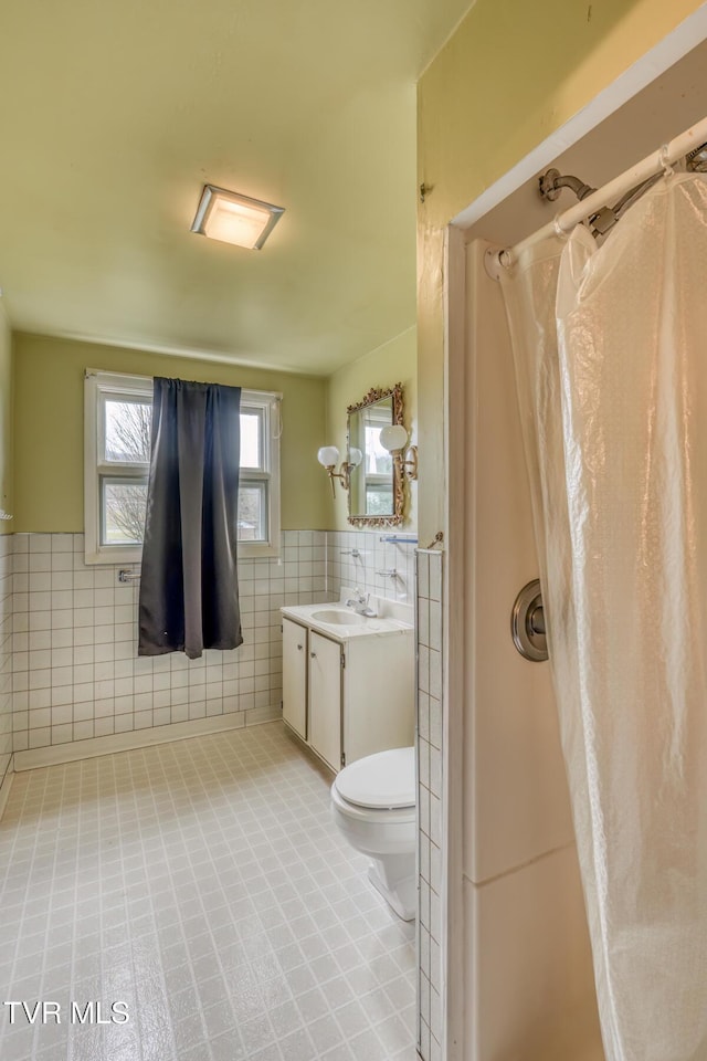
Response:
[{"label": "white two-door vanity cabinet under the sink, behind the toilet", "polygon": [[335,773],[374,752],[412,745],[412,624],[372,619],[348,628],[317,613],[331,616],[331,609],[283,609],[285,723]]}]

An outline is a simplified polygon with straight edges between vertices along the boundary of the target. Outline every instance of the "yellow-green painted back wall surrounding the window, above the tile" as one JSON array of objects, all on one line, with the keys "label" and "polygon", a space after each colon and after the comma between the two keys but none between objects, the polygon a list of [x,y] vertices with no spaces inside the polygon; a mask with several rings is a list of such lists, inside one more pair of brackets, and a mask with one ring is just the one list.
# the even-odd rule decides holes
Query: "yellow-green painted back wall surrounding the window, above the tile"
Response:
[{"label": "yellow-green painted back wall surrounding the window, above the tile", "polygon": [[[2,333],[4,335],[4,332]],[[0,474],[4,498],[9,345],[0,342]],[[328,483],[317,463],[325,441],[326,381],[214,361],[169,357],[15,333],[14,521],[12,530],[83,530],[84,369],[172,376],[283,393],[283,529],[328,528]],[[2,502],[4,504],[4,500]]]}]

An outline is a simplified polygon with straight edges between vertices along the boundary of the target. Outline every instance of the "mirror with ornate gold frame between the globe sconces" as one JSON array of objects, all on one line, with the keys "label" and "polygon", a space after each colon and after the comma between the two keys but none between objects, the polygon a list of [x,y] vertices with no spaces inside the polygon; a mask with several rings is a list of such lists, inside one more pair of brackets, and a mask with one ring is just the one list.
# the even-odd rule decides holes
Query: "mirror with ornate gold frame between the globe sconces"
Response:
[{"label": "mirror with ornate gold frame between the globe sconces", "polygon": [[404,492],[400,469],[380,443],[380,432],[403,422],[402,386],[371,388],[346,410],[347,450],[359,463],[350,468],[349,523],[357,527],[397,527],[402,523]]}]

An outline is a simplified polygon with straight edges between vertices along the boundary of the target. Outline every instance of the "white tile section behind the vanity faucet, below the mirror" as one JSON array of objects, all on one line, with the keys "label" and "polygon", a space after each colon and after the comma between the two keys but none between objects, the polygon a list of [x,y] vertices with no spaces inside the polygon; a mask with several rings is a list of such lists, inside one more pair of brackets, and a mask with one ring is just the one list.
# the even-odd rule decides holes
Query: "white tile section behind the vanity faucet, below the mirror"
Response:
[{"label": "white tile section behind the vanity faucet, below the mirror", "polygon": [[[390,543],[387,538],[402,538]],[[359,587],[362,592],[389,600],[414,603],[414,535],[395,530],[330,530],[327,534],[327,585],[333,599],[341,586]],[[395,571],[395,577],[381,575]]]}]

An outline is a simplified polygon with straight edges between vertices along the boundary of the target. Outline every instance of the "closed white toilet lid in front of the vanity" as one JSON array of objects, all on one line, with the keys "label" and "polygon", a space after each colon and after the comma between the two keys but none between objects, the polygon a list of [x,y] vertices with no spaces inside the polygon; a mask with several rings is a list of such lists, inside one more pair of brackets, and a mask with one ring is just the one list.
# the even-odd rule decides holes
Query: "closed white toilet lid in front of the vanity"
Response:
[{"label": "closed white toilet lid in front of the vanity", "polygon": [[334,784],[339,796],[357,807],[414,807],[415,749],[392,748],[367,755],[345,766]]}]

